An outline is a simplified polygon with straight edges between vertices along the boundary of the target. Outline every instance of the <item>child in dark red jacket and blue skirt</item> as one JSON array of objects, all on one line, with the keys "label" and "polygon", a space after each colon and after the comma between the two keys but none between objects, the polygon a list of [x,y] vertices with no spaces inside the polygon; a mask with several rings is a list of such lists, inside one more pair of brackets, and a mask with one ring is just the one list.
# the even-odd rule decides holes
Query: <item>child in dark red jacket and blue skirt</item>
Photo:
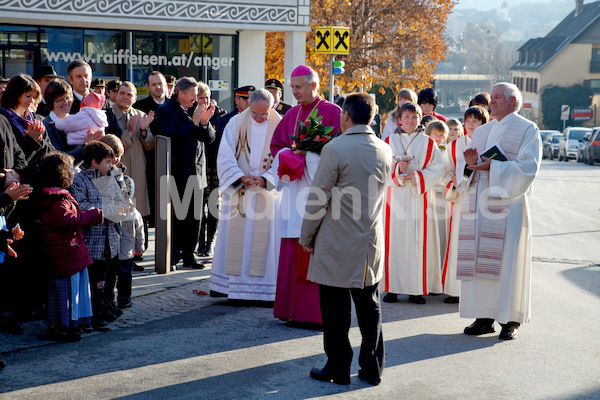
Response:
[{"label": "child in dark red jacket and blue skirt", "polygon": [[79,340],[82,332],[92,330],[87,267],[93,260],[83,244],[83,229],[103,221],[100,209],[79,209],[67,190],[73,177],[73,157],[50,153],[42,160],[36,179],[39,237],[50,267],[47,337],[61,342]]}]

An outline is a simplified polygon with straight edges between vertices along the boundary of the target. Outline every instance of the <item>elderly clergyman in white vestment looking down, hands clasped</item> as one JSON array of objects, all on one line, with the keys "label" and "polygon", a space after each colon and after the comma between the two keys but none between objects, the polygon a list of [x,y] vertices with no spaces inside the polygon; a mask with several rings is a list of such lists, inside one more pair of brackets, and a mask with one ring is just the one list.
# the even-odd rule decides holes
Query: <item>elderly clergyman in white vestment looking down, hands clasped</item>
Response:
[{"label": "elderly clergyman in white vestment looking down, hands clasped", "polygon": [[219,146],[223,201],[210,290],[211,296],[274,301],[280,195],[272,190],[270,144],[281,117],[272,110],[273,96],[266,89],[254,91],[249,102],[229,121]]}]

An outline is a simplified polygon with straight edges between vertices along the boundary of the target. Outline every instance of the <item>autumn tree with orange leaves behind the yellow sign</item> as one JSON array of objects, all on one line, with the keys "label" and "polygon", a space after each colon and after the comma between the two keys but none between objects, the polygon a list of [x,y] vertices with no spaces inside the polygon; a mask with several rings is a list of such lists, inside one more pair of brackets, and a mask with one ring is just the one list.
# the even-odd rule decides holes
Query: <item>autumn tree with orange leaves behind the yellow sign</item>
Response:
[{"label": "autumn tree with orange leaves behind the yellow sign", "polygon": [[[312,0],[307,64],[329,84],[329,56],[314,53],[314,28],[350,27],[350,54],[337,55],[346,72],[336,75],[343,92],[379,87],[430,87],[446,53],[444,30],[454,0]],[[284,34],[267,33],[268,77],[283,78]]]}]

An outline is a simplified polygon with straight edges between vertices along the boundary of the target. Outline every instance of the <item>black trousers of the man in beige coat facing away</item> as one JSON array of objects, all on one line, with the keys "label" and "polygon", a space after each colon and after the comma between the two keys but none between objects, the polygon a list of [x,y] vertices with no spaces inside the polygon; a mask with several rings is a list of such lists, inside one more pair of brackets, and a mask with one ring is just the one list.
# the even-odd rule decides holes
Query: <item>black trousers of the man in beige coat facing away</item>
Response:
[{"label": "black trousers of the man in beige coat facing away", "polygon": [[367,376],[381,376],[385,364],[379,283],[363,289],[319,285],[323,341],[327,369],[333,376],[350,375],[352,346],[348,339],[351,321],[350,297],[354,301],[362,335],[358,364]]}]

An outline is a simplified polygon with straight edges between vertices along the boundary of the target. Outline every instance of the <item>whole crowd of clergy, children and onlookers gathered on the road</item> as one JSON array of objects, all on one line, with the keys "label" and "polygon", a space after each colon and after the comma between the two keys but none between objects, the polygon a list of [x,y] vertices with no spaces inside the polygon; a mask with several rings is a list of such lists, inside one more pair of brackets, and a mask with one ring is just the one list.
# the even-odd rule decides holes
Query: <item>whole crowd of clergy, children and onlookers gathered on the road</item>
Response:
[{"label": "whole crowd of clergy, children and onlookers gathered on the road", "polygon": [[[214,246],[211,296],[272,303],[289,326],[323,329],[315,379],[350,381],[350,298],[359,378],[374,385],[380,291],[390,303],[446,294],[476,318],[469,335],[497,321],[514,339],[529,321],[527,195],[541,142],[514,85],[477,95],[464,124],[435,111],[432,88],[403,88],[380,134],[371,96],[338,89],[330,103],[308,66],[290,78],[298,105],[269,79],[234,89],[229,113],[192,77],[151,72],[139,101],[131,82],[92,80],[81,60],[66,78],[44,66],[0,80],[1,330],[45,317],[48,338],[74,341],[132,306],[157,213],[156,135],[171,138],[171,196],[191,193],[173,208],[171,268],[204,268],[197,257]],[[300,143],[311,127],[318,150]]]}]

